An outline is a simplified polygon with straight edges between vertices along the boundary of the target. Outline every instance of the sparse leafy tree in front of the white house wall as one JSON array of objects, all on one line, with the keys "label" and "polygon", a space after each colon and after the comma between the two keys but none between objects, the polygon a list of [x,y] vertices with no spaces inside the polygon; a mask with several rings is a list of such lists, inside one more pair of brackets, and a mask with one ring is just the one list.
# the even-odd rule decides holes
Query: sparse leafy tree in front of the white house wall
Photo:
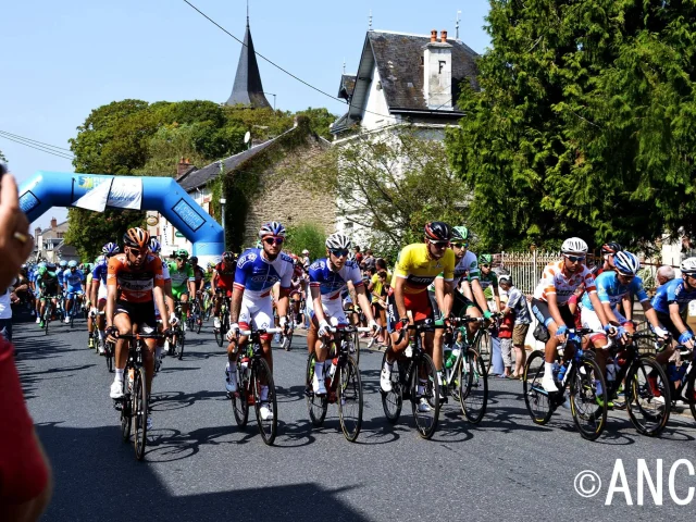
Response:
[{"label": "sparse leafy tree in front of the white house wall", "polygon": [[298,183],[335,194],[340,215],[369,228],[373,248],[394,257],[421,240],[428,221],[464,222],[468,194],[434,138],[412,127],[357,136],[330,149]]}]

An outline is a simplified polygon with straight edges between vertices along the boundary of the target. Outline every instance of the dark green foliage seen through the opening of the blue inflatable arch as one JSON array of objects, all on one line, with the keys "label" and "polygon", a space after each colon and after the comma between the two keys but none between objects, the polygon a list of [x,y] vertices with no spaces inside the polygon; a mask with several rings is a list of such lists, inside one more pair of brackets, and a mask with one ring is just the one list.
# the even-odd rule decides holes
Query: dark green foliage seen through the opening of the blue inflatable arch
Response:
[{"label": "dark green foliage seen through the opening of the blue inflatable arch", "polygon": [[84,209],[69,209],[70,226],[65,244],[77,249],[80,259],[94,260],[101,253],[104,243],[121,239],[132,226],[144,226],[145,214],[135,210],[105,210],[92,212]]}]

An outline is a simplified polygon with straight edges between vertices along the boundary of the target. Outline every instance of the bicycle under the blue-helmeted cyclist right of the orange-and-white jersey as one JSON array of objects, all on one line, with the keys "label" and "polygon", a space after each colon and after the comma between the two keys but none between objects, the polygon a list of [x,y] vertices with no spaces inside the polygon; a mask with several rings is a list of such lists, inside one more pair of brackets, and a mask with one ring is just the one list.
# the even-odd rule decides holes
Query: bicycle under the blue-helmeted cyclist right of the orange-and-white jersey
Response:
[{"label": "bicycle under the blue-helmeted cyclist right of the orange-and-white jersey", "polygon": [[625,380],[625,401],[614,408],[626,408],[631,422],[643,435],[659,435],[670,418],[671,393],[668,377],[662,366],[647,355],[641,355],[639,339],[657,338],[654,333],[626,334],[631,343],[626,346],[612,345],[611,360],[607,360],[607,396],[618,397]]}]

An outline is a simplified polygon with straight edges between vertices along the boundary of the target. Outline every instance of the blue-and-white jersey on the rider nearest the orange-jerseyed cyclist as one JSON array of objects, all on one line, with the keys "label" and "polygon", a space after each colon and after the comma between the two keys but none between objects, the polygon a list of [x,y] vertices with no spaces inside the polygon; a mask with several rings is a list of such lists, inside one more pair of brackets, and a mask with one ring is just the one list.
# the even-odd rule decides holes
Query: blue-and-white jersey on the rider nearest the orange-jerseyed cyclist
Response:
[{"label": "blue-and-white jersey on the rider nearest the orange-jerseyed cyclist", "polygon": [[293,258],[281,252],[273,261],[269,261],[262,252],[261,248],[250,248],[237,261],[234,287],[244,289],[245,297],[268,297],[278,281],[282,288],[290,287]]}]

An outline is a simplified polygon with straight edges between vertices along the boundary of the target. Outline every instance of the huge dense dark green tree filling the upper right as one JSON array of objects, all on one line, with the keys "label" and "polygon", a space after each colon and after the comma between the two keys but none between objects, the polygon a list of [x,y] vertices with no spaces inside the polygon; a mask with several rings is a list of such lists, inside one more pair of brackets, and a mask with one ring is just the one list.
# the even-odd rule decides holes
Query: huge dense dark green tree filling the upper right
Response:
[{"label": "huge dense dark green tree filling the upper right", "polygon": [[448,133],[488,248],[693,231],[696,8],[492,0],[481,90]]}]

